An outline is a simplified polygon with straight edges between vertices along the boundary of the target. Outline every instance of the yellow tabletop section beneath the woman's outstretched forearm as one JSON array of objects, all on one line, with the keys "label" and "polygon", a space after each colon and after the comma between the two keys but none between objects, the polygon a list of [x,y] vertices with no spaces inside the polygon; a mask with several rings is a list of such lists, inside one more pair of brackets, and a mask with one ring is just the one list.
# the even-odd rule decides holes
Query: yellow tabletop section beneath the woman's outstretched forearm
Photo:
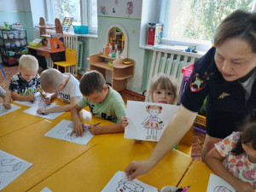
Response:
[{"label": "yellow tabletop section beneath the woman's outstretched forearm", "polygon": [[[135,143],[125,139],[123,133],[113,134],[29,191],[40,191],[44,187],[55,192],[101,191],[115,172],[124,171],[131,160],[148,158],[153,148],[150,142]],[[152,171],[138,179],[158,189],[175,186],[191,162],[189,155],[174,149]]]}]

